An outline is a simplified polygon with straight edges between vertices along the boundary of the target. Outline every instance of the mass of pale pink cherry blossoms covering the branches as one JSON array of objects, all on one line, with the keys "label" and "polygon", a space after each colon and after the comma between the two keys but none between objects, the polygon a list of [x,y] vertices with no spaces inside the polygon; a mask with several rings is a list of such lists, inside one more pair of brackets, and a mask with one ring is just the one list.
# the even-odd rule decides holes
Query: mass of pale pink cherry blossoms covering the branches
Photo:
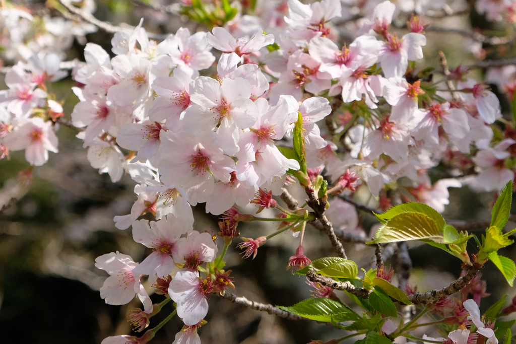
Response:
[{"label": "mass of pale pink cherry blossoms covering the branches", "polygon": [[[142,319],[156,310],[141,284],[148,276],[165,286],[185,324],[174,343],[199,342],[209,294],[223,293],[232,283],[216,260],[215,237],[193,230],[191,207],[205,203],[206,212],[224,214],[219,235],[233,238],[242,216],[234,206],[277,207],[272,195],[292,183],[301,163],[312,184],[324,174],[330,194],[363,185],[383,210],[391,206],[388,191],[396,183],[406,191],[400,195],[404,201],[442,212],[448,187],[493,191],[514,179],[516,128],[507,125],[503,139],[494,135],[491,125],[502,118],[496,95],[465,78],[461,68],[446,82],[432,83],[418,73],[415,65],[427,44],[424,17],[413,15],[404,35],[391,28],[400,11],[421,14],[430,5],[365,3],[367,15],[345,45],[337,45],[332,23],[351,15],[340,0],[261,6],[259,17],[238,15],[208,32],[180,28],[159,43],[140,22],[132,33],[114,35],[112,58],[100,45],[86,44],[86,63],[72,71],[79,103],[71,125],[80,129],[77,137],[93,168],[112,182],[126,173],[135,181],[137,201],[130,214],[115,217],[116,227],[132,226],[134,240],[153,250],[139,264],[119,252],[95,260],[110,275],[101,288],[107,303],[126,304],[138,296],[144,309],[135,318],[144,328],[148,323]],[[501,20],[506,11],[496,14],[494,3],[480,1],[477,8],[490,20]],[[55,131],[63,116],[47,84],[67,76],[60,63],[71,35],[84,38],[93,28],[74,26],[28,44],[25,27],[34,17],[14,8],[0,13],[9,32],[5,57],[17,61],[6,73],[9,89],[0,91],[0,158],[25,150],[26,160],[41,166],[49,151],[58,151]],[[49,32],[57,21],[42,20]],[[512,66],[491,70],[487,80],[512,96],[515,75]],[[319,127],[325,118],[329,121]],[[306,161],[291,149],[297,123]],[[456,178],[432,185],[429,170],[438,165]],[[302,210],[296,216],[306,216]],[[146,214],[155,221],[141,219]],[[327,215],[336,227],[363,235],[348,203],[332,200]],[[280,228],[291,224],[296,225]],[[245,239],[245,256],[256,256],[265,240]],[[310,262],[302,234],[300,241],[290,266]],[[202,267],[205,263],[209,267]],[[492,338],[469,307],[478,333]],[[465,343],[459,334],[467,339],[469,331],[452,332],[450,340]]]}]

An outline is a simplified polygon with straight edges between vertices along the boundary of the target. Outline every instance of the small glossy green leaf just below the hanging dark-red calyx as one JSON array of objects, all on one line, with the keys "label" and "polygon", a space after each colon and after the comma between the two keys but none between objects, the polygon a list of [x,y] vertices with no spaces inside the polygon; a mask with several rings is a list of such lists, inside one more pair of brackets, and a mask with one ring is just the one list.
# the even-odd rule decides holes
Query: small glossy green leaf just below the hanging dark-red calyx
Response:
[{"label": "small glossy green leaf just below the hanging dark-red calyx", "polygon": [[358,274],[357,263],[352,260],[325,257],[312,261],[312,264],[296,271],[296,275],[305,275],[309,271],[320,273],[323,276],[342,279],[356,279]]}]

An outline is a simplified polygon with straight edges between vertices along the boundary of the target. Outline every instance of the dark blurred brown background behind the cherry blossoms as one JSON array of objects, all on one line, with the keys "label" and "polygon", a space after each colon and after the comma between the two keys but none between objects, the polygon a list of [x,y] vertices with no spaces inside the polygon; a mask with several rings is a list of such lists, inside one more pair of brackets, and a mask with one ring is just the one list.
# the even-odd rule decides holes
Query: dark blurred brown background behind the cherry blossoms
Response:
[{"label": "dark blurred brown background behind the cherry blossoms", "polygon": [[[49,10],[44,2],[23,2],[35,13],[59,15]],[[162,3],[169,5],[170,3]],[[187,18],[156,12],[149,8],[135,6],[126,0],[96,2],[95,15],[100,20],[112,23],[137,25],[145,18],[144,27],[151,32],[173,33],[179,27],[191,31],[205,29],[199,24],[188,22]],[[465,28],[470,25],[482,30],[499,30],[473,10],[469,15],[431,20],[439,27]],[[98,31],[87,35],[89,42],[100,44],[111,51],[111,35]],[[504,56],[510,52],[496,51],[492,47],[468,41],[463,36],[450,32],[427,32],[429,44],[424,47],[425,60],[421,65],[439,68],[437,52],[443,51],[450,67],[474,62],[476,57],[489,54]],[[344,43],[345,37],[341,43]],[[347,41],[349,43],[349,41]],[[67,60],[78,58],[84,61],[84,46],[74,41],[67,52]],[[475,54],[475,55],[474,55]],[[478,73],[481,73],[479,71]],[[4,74],[2,74],[3,78]],[[480,76],[480,74],[477,74]],[[73,105],[78,101],[70,92],[74,86],[71,77],[53,84],[52,92],[58,99],[66,99],[65,118],[70,118]],[[493,90],[496,87],[492,85]],[[2,88],[6,88],[5,85]],[[508,101],[501,95],[503,111],[508,110]],[[324,125],[321,125],[324,127]],[[141,307],[133,301],[128,305],[112,306],[100,298],[99,288],[107,273],[94,267],[94,259],[102,254],[120,251],[141,261],[150,253],[143,245],[132,239],[131,228],[119,231],[112,218],[130,212],[136,195],[135,183],[126,175],[119,183],[111,183],[107,174],[99,175],[90,167],[82,141],[75,138],[76,131],[66,126],[58,130],[59,154],[50,155],[46,165],[35,168],[31,178],[20,172],[29,166],[24,152],[12,152],[10,159],[0,161],[0,329],[2,342],[19,343],[100,343],[105,337],[119,334],[134,334],[127,322],[127,315],[133,307]],[[439,168],[432,172],[437,180],[442,177]],[[29,180],[30,179],[30,180]],[[291,192],[303,201],[301,189],[294,186]],[[490,219],[490,206],[494,195],[474,193],[467,187],[450,188],[450,204],[443,216],[449,220],[476,221]],[[359,192],[360,195],[360,192]],[[303,203],[303,202],[301,202]],[[244,209],[249,214],[255,211],[250,206]],[[204,205],[194,209],[195,228],[201,232],[218,231],[217,218],[206,215]],[[264,211],[265,212],[265,211]],[[272,215],[272,214],[270,214]],[[363,212],[358,213],[359,225],[366,235],[376,223]],[[514,227],[509,223],[508,227]],[[241,236],[256,238],[276,230],[269,225],[241,224]],[[473,231],[479,235],[483,228]],[[222,240],[218,245],[223,247]],[[231,269],[238,296],[275,305],[293,305],[310,297],[311,287],[300,276],[286,270],[288,258],[295,253],[298,239],[286,233],[277,236],[260,248],[254,260],[241,259],[236,249],[236,238],[227,254],[227,269]],[[345,244],[348,257],[359,265],[372,267],[374,250],[365,245]],[[471,245],[470,252],[475,252]],[[305,254],[315,260],[333,255],[328,238],[308,227],[305,236]],[[413,264],[409,283],[425,291],[442,288],[460,274],[460,260],[445,255],[437,248],[426,244],[409,243],[409,254]],[[502,255],[516,258],[514,245]],[[396,269],[396,253],[386,261]],[[516,293],[511,290],[503,276],[488,263],[482,270],[482,279],[487,283],[491,296],[482,299],[481,311],[486,310],[503,294],[510,298]],[[396,279],[396,277],[395,277]],[[146,283],[149,292],[152,291]],[[232,290],[230,290],[233,292]],[[352,305],[343,294],[344,302]],[[153,294],[154,302],[163,296]],[[172,310],[167,305],[151,320],[151,326],[165,318]],[[312,339],[323,341],[343,337],[343,331],[312,321],[289,321],[262,312],[247,309],[212,296],[209,301],[207,324],[200,329],[201,341],[205,344],[232,343],[307,343]],[[171,343],[181,329],[177,317],[159,331],[153,343]],[[437,332],[424,332],[439,336]]]}]

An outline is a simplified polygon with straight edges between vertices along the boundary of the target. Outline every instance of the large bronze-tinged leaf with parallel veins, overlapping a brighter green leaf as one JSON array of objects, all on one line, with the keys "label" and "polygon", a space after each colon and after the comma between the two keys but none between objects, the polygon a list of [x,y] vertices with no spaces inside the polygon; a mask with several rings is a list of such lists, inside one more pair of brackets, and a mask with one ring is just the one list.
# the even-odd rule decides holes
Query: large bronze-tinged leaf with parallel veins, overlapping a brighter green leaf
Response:
[{"label": "large bronze-tinged leaf with parallel veins, overlapping a brighter green leaf", "polygon": [[426,215],[412,212],[396,215],[383,224],[376,232],[374,240],[367,244],[408,240],[443,243],[436,222]]}]

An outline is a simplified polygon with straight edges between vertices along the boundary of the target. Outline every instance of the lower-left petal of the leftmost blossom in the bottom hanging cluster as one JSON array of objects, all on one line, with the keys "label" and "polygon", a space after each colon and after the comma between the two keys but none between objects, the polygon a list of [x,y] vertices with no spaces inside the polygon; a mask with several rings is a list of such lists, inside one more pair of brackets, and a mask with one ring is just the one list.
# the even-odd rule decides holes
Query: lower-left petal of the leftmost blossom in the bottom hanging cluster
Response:
[{"label": "lower-left petal of the leftmost blossom in the bottom hanging cluster", "polygon": [[110,305],[125,305],[131,302],[136,295],[133,287],[135,283],[131,272],[109,276],[100,288],[100,297]]}]

